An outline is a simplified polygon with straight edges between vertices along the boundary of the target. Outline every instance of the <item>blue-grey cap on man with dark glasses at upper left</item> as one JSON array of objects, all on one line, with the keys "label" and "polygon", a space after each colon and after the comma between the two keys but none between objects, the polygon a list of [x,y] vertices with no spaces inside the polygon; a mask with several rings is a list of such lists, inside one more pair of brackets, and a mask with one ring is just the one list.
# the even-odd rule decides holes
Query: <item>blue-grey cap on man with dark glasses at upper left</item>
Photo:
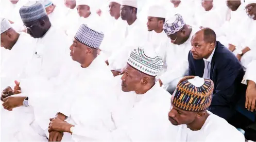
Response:
[{"label": "blue-grey cap on man with dark glasses at upper left", "polygon": [[36,21],[46,16],[45,8],[40,2],[28,2],[20,8],[20,15],[23,22]]}]

